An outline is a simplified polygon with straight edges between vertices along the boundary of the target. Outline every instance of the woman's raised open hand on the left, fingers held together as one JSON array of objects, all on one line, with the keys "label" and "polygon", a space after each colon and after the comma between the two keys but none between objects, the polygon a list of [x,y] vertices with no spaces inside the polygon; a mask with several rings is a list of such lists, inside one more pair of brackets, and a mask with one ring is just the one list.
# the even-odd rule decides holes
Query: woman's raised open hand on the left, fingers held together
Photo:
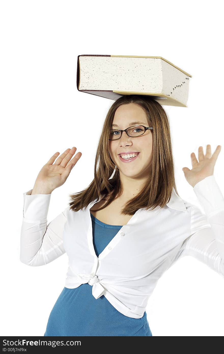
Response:
[{"label": "woman's raised open hand on the left, fingers held together", "polygon": [[[65,150],[60,156],[58,156],[59,152],[51,156],[50,160],[40,170],[33,187],[34,193],[32,192],[32,194],[50,194],[54,189],[64,184],[73,165],[82,156],[82,153],[78,152],[71,160],[75,152],[76,148],[73,147]],[[55,161],[56,158],[57,160]]]}]

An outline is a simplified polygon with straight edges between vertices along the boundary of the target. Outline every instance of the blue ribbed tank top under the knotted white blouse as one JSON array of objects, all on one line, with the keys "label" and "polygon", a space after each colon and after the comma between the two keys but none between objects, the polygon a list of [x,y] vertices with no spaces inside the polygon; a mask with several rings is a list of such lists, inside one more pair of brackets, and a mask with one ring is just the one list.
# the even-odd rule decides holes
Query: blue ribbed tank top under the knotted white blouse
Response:
[{"label": "blue ribbed tank top under the knotted white blouse", "polygon": [[[90,215],[98,257],[122,226],[105,224]],[[51,310],[44,336],[152,336],[152,332],[146,312],[141,318],[125,316],[104,295],[95,299],[92,286],[85,283],[75,289],[64,287]]]}]

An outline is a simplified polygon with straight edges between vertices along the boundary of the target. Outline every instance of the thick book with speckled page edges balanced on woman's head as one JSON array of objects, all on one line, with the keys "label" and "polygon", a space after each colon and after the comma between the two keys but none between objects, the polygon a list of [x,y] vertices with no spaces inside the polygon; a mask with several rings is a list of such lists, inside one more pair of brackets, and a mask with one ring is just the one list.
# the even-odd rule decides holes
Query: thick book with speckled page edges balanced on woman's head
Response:
[{"label": "thick book with speckled page edges balanced on woman's head", "polygon": [[192,76],[162,57],[82,54],[77,89],[114,101],[149,95],[162,105],[187,107]]}]

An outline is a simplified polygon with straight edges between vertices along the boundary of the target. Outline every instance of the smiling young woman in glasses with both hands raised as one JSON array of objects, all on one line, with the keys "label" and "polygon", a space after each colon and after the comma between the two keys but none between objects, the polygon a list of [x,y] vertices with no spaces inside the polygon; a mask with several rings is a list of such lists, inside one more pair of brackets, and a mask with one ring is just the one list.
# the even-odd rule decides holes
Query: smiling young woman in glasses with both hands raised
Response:
[{"label": "smiling young woman in glasses with both hands raised", "polygon": [[73,147],[50,158],[24,193],[20,254],[31,266],[68,255],[44,336],[152,336],[147,301],[177,259],[194,256],[224,275],[224,198],[213,175],[220,149],[211,155],[207,145],[204,155],[199,147],[192,169],[182,169],[204,215],[177,193],[162,106],[149,96],[122,96],[107,113],[94,180],[47,224],[51,193],[82,154],[73,157]]}]

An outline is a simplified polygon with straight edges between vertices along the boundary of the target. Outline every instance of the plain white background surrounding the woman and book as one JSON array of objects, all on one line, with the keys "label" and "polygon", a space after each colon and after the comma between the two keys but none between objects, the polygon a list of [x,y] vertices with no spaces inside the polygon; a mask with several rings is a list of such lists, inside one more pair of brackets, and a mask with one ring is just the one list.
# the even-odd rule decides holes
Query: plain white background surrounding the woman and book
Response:
[{"label": "plain white background surrounding the woman and book", "polygon": [[[60,295],[67,255],[42,267],[19,261],[23,193],[55,152],[80,160],[51,195],[48,223],[94,178],[113,100],[79,92],[81,54],[162,56],[192,75],[187,108],[163,106],[181,198],[197,204],[183,167],[200,145],[222,145],[214,169],[224,195],[223,11],[212,1],[1,1],[1,335],[43,336]],[[83,134],[80,126],[85,126]],[[92,136],[91,131],[96,131]],[[223,235],[224,236],[224,235]],[[170,268],[149,299],[153,336],[223,336],[224,278],[195,258]],[[97,300],[96,300],[97,301]]]}]

